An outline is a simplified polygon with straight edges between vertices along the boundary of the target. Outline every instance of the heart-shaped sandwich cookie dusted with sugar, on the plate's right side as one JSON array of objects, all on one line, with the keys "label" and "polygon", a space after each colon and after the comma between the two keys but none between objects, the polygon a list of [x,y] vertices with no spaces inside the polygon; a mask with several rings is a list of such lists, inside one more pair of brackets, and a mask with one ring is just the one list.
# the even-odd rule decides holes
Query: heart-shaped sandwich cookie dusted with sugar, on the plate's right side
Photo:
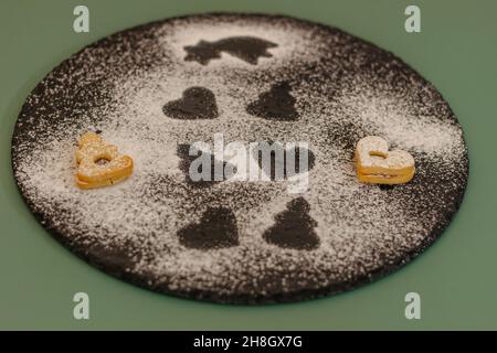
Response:
[{"label": "heart-shaped sandwich cookie dusted with sugar, on the plate's right side", "polygon": [[415,172],[414,158],[409,152],[390,151],[387,140],[378,136],[359,140],[355,160],[359,180],[367,183],[406,183]]}]

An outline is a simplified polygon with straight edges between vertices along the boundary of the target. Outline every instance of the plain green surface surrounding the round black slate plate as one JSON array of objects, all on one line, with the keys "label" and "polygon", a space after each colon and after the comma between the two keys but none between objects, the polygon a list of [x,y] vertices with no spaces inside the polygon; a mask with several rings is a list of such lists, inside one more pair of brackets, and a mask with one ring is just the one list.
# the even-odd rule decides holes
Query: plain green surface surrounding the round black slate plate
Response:
[{"label": "plain green surface surrounding the round black slate plate", "polygon": [[[422,32],[404,31],[404,9]],[[86,4],[91,32],[74,33]],[[465,130],[470,176],[463,205],[425,254],[395,274],[343,295],[300,303],[221,306],[136,288],[86,265],[56,243],[22,202],[10,139],[23,100],[55,65],[110,33],[208,11],[283,13],[331,24],[392,51],[430,79]],[[0,329],[497,329],[497,1],[202,0],[0,2]],[[73,318],[73,295],[91,319]],[[404,296],[422,299],[406,320]]]}]

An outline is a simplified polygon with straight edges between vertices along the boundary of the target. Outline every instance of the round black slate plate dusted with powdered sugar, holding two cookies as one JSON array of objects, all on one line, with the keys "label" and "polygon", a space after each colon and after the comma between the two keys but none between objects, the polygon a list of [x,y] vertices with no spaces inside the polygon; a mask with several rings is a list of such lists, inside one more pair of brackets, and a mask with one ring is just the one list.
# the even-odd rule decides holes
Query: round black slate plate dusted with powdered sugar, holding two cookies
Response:
[{"label": "round black slate plate dusted with powdered sugar, holding two cookies", "polygon": [[[268,145],[266,163],[252,148]],[[119,153],[135,162],[126,182],[75,185],[127,176]],[[240,161],[267,178],[228,178]],[[456,117],[400,58],[260,14],[176,18],[85,47],[27,98],[12,165],[36,218],[89,264],[242,303],[350,290],[408,264],[447,226],[468,173]]]}]

